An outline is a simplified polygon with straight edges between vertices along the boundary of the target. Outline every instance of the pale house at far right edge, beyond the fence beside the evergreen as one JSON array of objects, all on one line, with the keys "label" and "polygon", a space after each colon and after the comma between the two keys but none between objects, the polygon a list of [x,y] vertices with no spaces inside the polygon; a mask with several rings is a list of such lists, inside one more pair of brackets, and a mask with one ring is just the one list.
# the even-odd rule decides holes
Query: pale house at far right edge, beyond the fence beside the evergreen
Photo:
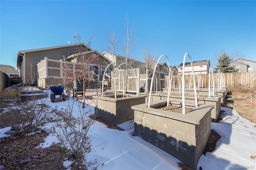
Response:
[{"label": "pale house at far right edge, beyond the fence beside the evergreen", "polygon": [[230,63],[238,72],[251,72],[256,71],[256,61],[238,58]]}]

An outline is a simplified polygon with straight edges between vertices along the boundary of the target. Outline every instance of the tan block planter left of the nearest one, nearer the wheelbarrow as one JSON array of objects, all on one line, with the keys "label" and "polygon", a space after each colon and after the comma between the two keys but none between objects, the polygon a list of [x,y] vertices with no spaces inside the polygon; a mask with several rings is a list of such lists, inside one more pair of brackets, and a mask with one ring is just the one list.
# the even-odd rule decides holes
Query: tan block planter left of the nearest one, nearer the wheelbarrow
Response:
[{"label": "tan block planter left of the nearest one, nearer the wheelbarrow", "polygon": [[96,117],[118,125],[125,121],[134,119],[134,111],[131,109],[134,105],[145,103],[146,96],[143,95],[104,95],[97,97],[97,107],[95,107]]}]

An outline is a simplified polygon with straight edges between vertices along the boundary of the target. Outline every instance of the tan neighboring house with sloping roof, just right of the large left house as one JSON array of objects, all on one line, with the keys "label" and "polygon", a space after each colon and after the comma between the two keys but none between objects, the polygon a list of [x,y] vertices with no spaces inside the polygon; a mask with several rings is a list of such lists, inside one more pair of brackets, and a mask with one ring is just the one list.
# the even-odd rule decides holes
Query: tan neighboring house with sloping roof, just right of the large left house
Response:
[{"label": "tan neighboring house with sloping roof, just right of the large left house", "polygon": [[[121,63],[126,63],[126,57],[122,57],[122,56],[116,55],[116,54],[113,55],[113,54],[107,53],[107,52],[103,52],[102,55],[104,55],[110,61],[110,63],[116,63],[117,67]],[[142,71],[142,68],[144,67],[143,62],[135,60],[135,59],[131,59],[131,58],[127,58],[127,63],[129,65],[131,65],[132,68],[140,68],[141,71]],[[128,67],[128,69],[130,69],[130,68]]]}]

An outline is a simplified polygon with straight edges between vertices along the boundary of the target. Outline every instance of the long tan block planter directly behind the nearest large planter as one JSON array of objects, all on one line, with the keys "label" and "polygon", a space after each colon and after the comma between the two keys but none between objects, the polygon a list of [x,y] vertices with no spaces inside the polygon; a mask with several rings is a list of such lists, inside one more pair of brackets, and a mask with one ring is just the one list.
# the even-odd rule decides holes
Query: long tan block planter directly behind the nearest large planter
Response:
[{"label": "long tan block planter directly behind the nearest large planter", "polygon": [[[149,93],[140,93],[140,95],[146,95],[146,102],[148,102]],[[159,101],[159,100],[167,100],[167,93],[152,93],[151,101]],[[195,103],[194,96],[185,96],[186,102]],[[221,107],[221,98],[220,96],[215,97],[207,97],[201,96],[198,98],[198,104],[204,105],[212,105],[214,108],[211,110],[211,118],[212,122],[216,122],[220,115],[220,107]],[[179,101],[182,102],[182,95],[176,93],[176,95],[170,95],[170,101]]]}]

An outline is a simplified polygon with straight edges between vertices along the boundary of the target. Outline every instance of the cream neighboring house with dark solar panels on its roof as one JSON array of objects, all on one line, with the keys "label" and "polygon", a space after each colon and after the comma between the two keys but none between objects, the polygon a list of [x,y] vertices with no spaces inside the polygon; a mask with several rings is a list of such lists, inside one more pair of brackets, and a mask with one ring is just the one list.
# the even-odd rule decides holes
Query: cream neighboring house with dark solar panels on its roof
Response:
[{"label": "cream neighboring house with dark solar panels on its roof", "polygon": [[[207,74],[210,71],[210,60],[202,61],[193,61],[192,62],[194,73],[195,74]],[[182,74],[183,63],[178,65],[178,74]],[[190,62],[185,63],[184,65],[184,74],[192,74],[192,66]]]}]

